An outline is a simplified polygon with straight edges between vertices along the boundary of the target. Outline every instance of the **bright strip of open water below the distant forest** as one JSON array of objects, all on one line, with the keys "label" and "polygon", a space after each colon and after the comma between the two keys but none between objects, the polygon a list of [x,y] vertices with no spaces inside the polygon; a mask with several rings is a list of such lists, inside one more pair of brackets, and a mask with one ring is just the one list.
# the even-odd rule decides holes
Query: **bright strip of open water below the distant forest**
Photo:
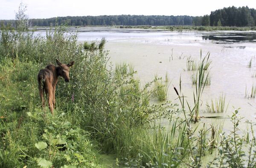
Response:
[{"label": "bright strip of open water below the distant forest", "polygon": [[[35,34],[45,36],[49,28],[38,28]],[[153,41],[172,41],[173,43],[212,42],[215,44],[233,44],[239,42],[256,42],[256,31],[168,31],[160,29],[113,28],[113,27],[80,27],[68,28],[77,32],[78,40],[131,40],[151,39]],[[241,46],[243,48],[243,46]]]}]

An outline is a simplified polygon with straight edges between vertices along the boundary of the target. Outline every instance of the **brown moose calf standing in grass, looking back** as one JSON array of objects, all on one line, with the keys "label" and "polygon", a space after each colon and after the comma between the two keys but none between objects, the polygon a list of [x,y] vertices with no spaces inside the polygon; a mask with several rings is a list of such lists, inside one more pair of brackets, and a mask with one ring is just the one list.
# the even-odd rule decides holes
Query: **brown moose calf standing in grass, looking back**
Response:
[{"label": "brown moose calf standing in grass, looking back", "polygon": [[53,109],[55,107],[55,87],[58,81],[58,76],[62,76],[65,82],[69,82],[69,67],[73,66],[74,62],[69,64],[62,64],[56,59],[58,66],[52,64],[47,65],[43,70],[38,73],[38,88],[40,98],[44,108],[44,92],[48,95],[49,109],[53,115]]}]

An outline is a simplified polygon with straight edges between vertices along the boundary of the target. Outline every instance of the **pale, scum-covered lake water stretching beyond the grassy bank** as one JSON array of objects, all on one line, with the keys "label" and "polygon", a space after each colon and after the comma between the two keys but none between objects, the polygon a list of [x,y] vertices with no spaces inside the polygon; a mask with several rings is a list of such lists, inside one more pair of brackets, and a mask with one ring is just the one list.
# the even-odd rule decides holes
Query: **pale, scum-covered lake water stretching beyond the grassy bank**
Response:
[{"label": "pale, scum-covered lake water stretching beyond the grassy bank", "polygon": [[[79,33],[79,40],[93,40],[106,37],[106,49],[110,50],[111,62],[131,63],[142,84],[153,80],[154,75],[164,78],[166,72],[175,87],[179,86],[181,75],[182,92],[192,105],[193,90],[191,82],[192,71],[186,71],[186,58],[191,56],[200,59],[200,50],[205,56],[210,52],[212,61],[210,74],[211,85],[205,87],[201,116],[232,115],[234,109],[239,109],[242,119],[239,125],[246,130],[247,120],[256,122],[256,98],[248,99],[245,96],[245,87],[251,88],[256,84],[252,74],[256,72],[256,32],[236,31],[160,31],[137,29],[94,29]],[[172,57],[171,57],[172,56]],[[180,59],[181,58],[181,59]],[[247,65],[253,59],[252,67]],[[171,85],[172,86],[172,85]],[[229,104],[226,113],[205,113],[206,102],[226,95],[226,104]],[[179,103],[175,99],[172,87],[169,88],[169,100]],[[224,123],[224,132],[232,128],[230,119],[206,119],[201,122]],[[168,122],[163,123],[168,125]],[[242,132],[241,132],[242,133]]]}]

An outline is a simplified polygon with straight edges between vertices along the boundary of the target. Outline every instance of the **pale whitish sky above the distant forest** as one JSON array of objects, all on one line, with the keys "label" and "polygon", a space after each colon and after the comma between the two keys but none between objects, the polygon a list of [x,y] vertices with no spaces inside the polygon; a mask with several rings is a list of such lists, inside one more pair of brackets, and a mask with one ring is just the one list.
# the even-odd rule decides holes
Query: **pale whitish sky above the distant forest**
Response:
[{"label": "pale whitish sky above the distant forest", "polygon": [[[21,0],[0,0],[0,20],[15,19]],[[99,15],[203,16],[229,6],[256,8],[256,0],[23,0],[29,19]]]}]

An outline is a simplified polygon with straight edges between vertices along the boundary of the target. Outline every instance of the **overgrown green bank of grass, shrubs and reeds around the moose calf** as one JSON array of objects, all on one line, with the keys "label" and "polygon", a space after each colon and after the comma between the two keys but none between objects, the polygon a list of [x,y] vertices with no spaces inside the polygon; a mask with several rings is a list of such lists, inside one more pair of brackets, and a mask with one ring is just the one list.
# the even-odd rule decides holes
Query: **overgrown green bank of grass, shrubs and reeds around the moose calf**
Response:
[{"label": "overgrown green bank of grass, shrubs and reeds around the moose calf", "polygon": [[[255,166],[253,129],[247,137],[237,133],[237,110],[228,135],[221,125],[200,121],[209,53],[195,68],[194,104],[186,102],[180,80],[180,90],[175,88],[178,105],[166,96],[167,74],[164,81],[155,77],[141,86],[133,66],[113,68],[103,42],[93,46],[98,47],[77,45],[77,34],[66,34],[61,26],[46,37],[2,27],[0,167],[104,167],[99,154],[114,154],[116,166],[133,168]],[[36,76],[56,58],[75,64],[70,82],[58,81],[51,115],[41,108]],[[149,103],[156,98],[159,103]],[[162,120],[169,126],[161,126]],[[204,161],[209,154],[215,157]]]}]

